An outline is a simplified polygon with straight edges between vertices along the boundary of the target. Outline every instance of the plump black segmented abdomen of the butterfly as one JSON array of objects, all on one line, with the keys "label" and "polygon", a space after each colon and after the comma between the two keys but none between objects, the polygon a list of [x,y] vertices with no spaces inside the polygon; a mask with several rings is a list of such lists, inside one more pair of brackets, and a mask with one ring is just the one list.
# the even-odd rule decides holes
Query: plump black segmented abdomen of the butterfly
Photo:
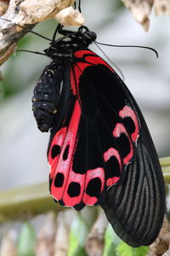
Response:
[{"label": "plump black segmented abdomen of the butterfly", "polygon": [[40,131],[48,131],[53,125],[60,98],[63,65],[53,61],[44,68],[32,97],[32,110]]}]

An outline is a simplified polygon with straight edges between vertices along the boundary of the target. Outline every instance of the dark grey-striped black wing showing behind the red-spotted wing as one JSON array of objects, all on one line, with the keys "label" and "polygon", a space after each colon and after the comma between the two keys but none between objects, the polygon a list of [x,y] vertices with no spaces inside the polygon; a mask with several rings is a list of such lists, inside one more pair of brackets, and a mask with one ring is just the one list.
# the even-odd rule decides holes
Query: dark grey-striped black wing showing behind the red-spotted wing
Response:
[{"label": "dark grey-striped black wing showing behind the red-spotted wing", "polygon": [[[138,109],[139,111],[139,109]],[[165,185],[156,148],[139,111],[140,137],[122,183],[112,186],[103,207],[116,234],[131,247],[156,240],[165,212]]]}]

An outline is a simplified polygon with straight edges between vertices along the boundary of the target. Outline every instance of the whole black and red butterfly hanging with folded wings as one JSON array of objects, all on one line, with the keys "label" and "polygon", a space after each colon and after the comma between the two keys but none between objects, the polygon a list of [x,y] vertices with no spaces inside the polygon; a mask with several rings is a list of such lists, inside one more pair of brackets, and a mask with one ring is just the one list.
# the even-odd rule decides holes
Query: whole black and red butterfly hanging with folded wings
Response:
[{"label": "whole black and red butterfly hanging with folded wings", "polygon": [[32,99],[38,128],[51,132],[50,192],[76,210],[101,205],[123,241],[149,245],[161,229],[165,189],[143,115],[122,79],[88,49],[94,32],[56,32],[63,37],[45,49],[53,61]]}]

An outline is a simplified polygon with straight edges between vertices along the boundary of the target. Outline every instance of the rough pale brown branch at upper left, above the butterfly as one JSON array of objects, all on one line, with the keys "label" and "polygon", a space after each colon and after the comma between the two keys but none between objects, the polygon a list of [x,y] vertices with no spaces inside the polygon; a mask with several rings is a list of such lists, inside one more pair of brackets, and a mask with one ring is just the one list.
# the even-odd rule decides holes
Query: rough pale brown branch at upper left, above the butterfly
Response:
[{"label": "rough pale brown branch at upper left, above the butterfly", "polygon": [[[42,20],[54,18],[64,26],[81,26],[84,19],[82,14],[71,7],[74,2],[75,0],[10,0],[7,11],[1,17],[5,20],[0,20],[0,65],[14,53],[16,42]],[[1,6],[0,2],[0,8]],[[2,13],[4,11],[5,8]]]}]

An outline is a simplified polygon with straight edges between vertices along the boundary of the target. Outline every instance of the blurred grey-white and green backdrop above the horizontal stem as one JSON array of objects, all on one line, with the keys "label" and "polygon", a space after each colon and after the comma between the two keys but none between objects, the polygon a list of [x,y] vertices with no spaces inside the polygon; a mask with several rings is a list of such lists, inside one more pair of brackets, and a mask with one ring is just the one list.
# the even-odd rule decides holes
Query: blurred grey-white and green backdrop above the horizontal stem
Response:
[{"label": "blurred grey-white and green backdrop above the horizontal stem", "polygon": [[[139,103],[149,125],[159,156],[170,155],[170,20],[150,16],[150,31],[142,26],[121,1],[82,1],[85,25],[97,32],[97,40],[107,44],[142,44],[154,47],[159,59],[148,49],[102,46],[121,68],[125,83]],[[34,30],[53,37],[57,23],[46,20]],[[29,33],[19,49],[42,51],[48,41]],[[93,49],[104,57],[95,45]],[[105,58],[105,57],[104,57]],[[47,147],[49,134],[37,130],[31,112],[31,97],[42,69],[50,60],[41,55],[17,52],[3,64],[0,83],[0,189],[10,189],[48,181]]]}]

